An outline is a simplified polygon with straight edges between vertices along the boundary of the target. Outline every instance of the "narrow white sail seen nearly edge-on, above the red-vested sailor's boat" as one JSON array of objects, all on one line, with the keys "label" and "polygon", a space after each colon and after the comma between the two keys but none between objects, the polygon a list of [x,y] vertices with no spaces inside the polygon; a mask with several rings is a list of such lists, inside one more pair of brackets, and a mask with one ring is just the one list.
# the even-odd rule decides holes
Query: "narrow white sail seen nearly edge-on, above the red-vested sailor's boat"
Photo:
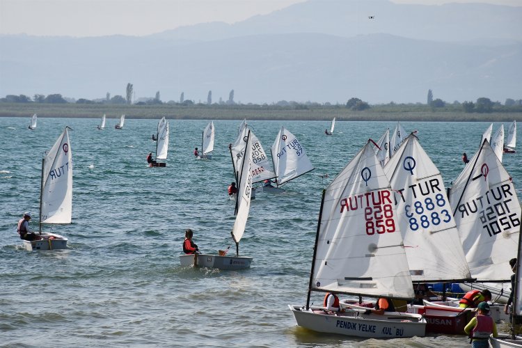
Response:
[{"label": "narrow white sail seen nearly edge-on, above the red-vested sailor's boat", "polygon": [[252,194],[252,142],[247,133],[246,148],[244,150],[244,160],[242,161],[241,177],[239,177],[239,187],[237,188],[237,209],[232,237],[236,243],[243,237],[246,219],[250,211],[250,200]]}]

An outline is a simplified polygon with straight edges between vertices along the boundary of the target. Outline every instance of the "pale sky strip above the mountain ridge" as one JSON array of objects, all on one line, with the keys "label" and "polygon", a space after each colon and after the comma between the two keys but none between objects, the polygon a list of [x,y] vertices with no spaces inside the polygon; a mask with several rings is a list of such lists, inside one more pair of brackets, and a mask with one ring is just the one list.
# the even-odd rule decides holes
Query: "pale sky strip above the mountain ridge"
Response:
[{"label": "pale sky strip above the mountain ridge", "polygon": [[[143,36],[205,22],[232,24],[304,1],[306,0],[0,0],[0,34]],[[522,0],[393,2],[424,5],[473,2],[522,6]]]}]

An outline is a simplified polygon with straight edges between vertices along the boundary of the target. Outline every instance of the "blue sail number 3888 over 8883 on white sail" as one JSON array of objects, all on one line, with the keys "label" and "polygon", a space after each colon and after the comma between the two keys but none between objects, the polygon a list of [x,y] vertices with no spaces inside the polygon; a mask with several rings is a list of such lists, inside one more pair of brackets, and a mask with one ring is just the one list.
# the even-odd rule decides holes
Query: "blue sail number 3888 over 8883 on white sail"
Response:
[{"label": "blue sail number 3888 over 8883 on white sail", "polygon": [[[434,212],[435,207],[444,207],[446,205],[446,200],[442,193],[437,193],[435,196],[435,201],[431,197],[427,197],[424,200],[424,204],[422,201],[416,200],[413,202],[413,207],[411,205],[404,206],[404,214],[409,219],[409,227],[410,230],[416,231],[419,227],[429,228],[430,225],[437,226],[441,223],[441,221],[448,223],[451,221],[451,214],[447,209],[443,209],[441,214],[438,212]],[[418,219],[415,215],[418,215]]]}]

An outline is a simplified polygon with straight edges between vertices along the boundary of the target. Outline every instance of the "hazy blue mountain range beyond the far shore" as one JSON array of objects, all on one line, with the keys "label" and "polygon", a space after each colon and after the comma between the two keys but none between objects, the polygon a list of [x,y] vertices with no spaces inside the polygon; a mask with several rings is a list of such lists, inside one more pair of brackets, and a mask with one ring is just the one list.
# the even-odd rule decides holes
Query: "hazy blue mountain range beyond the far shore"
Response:
[{"label": "hazy blue mountain range beyond the far shore", "polygon": [[[369,19],[368,16],[374,16]],[[145,37],[0,36],[0,96],[236,102],[521,99],[522,8],[311,0]]]}]

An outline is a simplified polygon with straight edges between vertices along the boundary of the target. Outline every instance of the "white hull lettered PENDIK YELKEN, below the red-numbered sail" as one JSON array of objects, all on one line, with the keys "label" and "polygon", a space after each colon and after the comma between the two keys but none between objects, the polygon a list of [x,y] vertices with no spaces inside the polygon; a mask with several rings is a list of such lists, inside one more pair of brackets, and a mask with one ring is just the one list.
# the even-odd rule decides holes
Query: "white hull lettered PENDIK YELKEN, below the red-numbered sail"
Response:
[{"label": "white hull lettered PENDIK YELKEN, below the red-numbered sail", "polygon": [[426,321],[421,315],[398,312],[365,315],[361,310],[332,313],[319,308],[288,307],[297,325],[317,332],[361,338],[409,338],[426,334]]}]

